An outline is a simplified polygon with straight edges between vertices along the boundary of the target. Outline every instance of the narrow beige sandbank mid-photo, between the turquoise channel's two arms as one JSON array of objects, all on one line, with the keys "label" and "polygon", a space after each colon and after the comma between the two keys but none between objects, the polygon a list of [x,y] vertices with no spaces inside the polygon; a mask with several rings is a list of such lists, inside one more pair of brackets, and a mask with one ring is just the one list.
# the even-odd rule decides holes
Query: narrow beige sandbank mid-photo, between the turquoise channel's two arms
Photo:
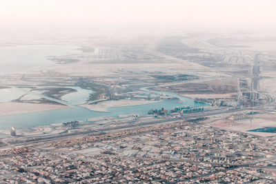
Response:
[{"label": "narrow beige sandbank mid-photo, between the turquoise channel's two arms", "polygon": [[134,100],[119,100],[119,101],[103,101],[97,104],[88,105],[83,104],[79,105],[83,108],[87,108],[88,110],[94,110],[99,112],[108,112],[108,108],[115,107],[124,107],[124,106],[132,106],[132,105],[144,105],[148,103],[156,103],[157,101],[134,101]]}]

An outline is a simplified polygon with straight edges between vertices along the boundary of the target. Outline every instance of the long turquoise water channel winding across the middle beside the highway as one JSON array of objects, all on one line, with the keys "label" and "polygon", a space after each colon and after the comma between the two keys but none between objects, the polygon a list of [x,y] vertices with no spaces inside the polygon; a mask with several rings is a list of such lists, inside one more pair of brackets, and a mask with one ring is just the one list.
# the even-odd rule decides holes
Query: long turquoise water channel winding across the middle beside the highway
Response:
[{"label": "long turquoise water channel winding across the middle beside the highway", "polygon": [[[71,87],[70,87],[71,88]],[[171,110],[175,107],[182,107],[188,105],[190,107],[200,107],[207,105],[206,103],[201,103],[194,101],[193,99],[188,99],[183,96],[178,96],[174,93],[168,92],[155,92],[161,94],[168,94],[170,96],[178,97],[179,99],[158,101],[156,103],[144,104],[144,105],[132,105],[126,107],[109,108],[109,112],[97,112],[88,110],[86,108],[81,108],[75,104],[79,104],[84,99],[83,97],[75,99],[76,96],[85,96],[88,98],[88,92],[79,90],[76,87],[77,92],[67,95],[66,104],[70,105],[72,103],[72,108],[62,109],[62,110],[50,110],[44,112],[32,112],[25,114],[15,114],[10,116],[0,116],[0,129],[8,130],[10,127],[23,128],[23,127],[36,127],[39,125],[50,125],[52,123],[63,123],[67,121],[87,121],[87,119],[106,117],[106,116],[116,116],[120,114],[148,114],[151,109],[161,109],[165,108]],[[90,91],[92,92],[92,91]],[[151,91],[153,92],[153,91]],[[79,93],[79,94],[78,94]],[[64,96],[63,96],[64,99]],[[51,99],[52,100],[52,99]],[[57,100],[60,102],[60,100]]]}]

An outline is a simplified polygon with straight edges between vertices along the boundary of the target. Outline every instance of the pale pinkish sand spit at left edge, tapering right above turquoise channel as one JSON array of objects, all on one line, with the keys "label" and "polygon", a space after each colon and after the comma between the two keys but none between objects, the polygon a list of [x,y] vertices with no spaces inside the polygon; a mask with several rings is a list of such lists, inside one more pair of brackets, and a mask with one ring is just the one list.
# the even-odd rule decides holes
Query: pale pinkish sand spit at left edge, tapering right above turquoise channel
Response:
[{"label": "pale pinkish sand spit at left edge, tapering right above turquoise channel", "polygon": [[52,105],[41,103],[17,103],[6,102],[0,103],[0,116],[8,116],[12,114],[23,114],[28,112],[41,112],[46,110],[60,110],[70,108],[66,105]]}]

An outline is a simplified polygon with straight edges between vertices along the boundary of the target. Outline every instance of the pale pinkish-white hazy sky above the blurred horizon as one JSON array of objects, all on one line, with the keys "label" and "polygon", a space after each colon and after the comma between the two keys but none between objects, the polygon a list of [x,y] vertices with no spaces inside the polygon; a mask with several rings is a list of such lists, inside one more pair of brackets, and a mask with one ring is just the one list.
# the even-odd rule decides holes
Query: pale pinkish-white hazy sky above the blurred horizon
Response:
[{"label": "pale pinkish-white hazy sky above the blurred horizon", "polygon": [[275,0],[1,0],[0,33],[276,30]]}]

